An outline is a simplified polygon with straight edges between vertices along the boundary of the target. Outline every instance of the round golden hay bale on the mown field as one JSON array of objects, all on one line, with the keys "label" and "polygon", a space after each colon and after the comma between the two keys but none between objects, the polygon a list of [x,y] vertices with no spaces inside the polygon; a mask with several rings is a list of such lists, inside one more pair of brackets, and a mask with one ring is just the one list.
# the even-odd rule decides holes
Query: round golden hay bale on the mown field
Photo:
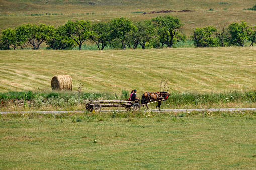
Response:
[{"label": "round golden hay bale on the mown field", "polygon": [[73,90],[73,82],[69,75],[53,76],[52,90]]}]

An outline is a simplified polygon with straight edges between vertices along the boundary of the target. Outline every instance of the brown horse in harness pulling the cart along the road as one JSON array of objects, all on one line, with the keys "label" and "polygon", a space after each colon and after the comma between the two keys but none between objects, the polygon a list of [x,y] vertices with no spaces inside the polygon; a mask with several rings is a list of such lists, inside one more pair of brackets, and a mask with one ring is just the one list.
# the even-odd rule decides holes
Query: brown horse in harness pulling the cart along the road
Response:
[{"label": "brown horse in harness pulling the cart along the road", "polygon": [[[142,95],[142,98],[141,98],[141,104],[146,104],[147,106],[147,103],[150,102],[150,101],[158,101],[158,106],[156,106],[156,108],[158,107],[159,110],[160,109],[160,106],[161,106],[161,101],[166,101],[168,99],[168,97],[170,96],[169,93],[167,92],[157,92],[157,93],[150,93],[150,92],[146,92]],[[161,100],[161,101],[159,101]],[[148,106],[147,106],[147,109],[148,109]]]}]

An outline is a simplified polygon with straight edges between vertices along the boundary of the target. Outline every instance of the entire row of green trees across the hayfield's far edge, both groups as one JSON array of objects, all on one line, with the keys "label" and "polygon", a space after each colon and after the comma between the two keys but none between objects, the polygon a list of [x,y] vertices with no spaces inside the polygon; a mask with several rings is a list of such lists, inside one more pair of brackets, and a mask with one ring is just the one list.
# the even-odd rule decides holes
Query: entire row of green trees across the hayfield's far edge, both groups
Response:
[{"label": "entire row of green trees across the hayfield's far edge, both groups", "polygon": [[[175,43],[186,40],[181,32],[182,26],[181,21],[171,15],[136,23],[124,17],[94,24],[89,20],[68,20],[57,28],[45,24],[23,24],[2,31],[0,49],[36,50],[44,42],[47,49],[73,49],[78,46],[81,50],[86,41],[96,44],[99,50],[108,45],[120,45],[122,49],[173,47]],[[196,47],[244,46],[246,40],[253,45],[255,29],[244,21],[222,28],[207,26],[194,29],[191,39]]]}]

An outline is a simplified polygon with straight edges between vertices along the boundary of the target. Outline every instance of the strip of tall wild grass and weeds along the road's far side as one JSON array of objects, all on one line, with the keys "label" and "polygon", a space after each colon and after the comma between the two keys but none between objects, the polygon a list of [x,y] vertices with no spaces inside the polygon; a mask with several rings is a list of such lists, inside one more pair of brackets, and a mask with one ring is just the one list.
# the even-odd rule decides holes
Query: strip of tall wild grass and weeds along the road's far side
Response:
[{"label": "strip of tall wild grass and weeds along the road's far side", "polygon": [[[191,108],[255,108],[256,91],[230,91],[222,93],[172,92],[162,102],[162,109]],[[140,98],[141,96],[138,95]],[[70,111],[86,110],[85,100],[124,100],[129,92],[122,94],[77,93],[77,92],[8,92],[0,93],[0,111]],[[148,105],[155,109],[158,103]],[[123,110],[118,107],[103,107],[103,110]],[[141,110],[145,110],[142,107]]]}]

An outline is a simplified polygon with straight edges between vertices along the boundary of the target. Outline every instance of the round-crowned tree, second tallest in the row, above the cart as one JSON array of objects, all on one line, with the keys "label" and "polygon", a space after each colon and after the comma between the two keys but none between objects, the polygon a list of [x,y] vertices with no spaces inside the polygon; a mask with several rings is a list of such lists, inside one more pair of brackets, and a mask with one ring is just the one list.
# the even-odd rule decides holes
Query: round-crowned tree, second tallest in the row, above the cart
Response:
[{"label": "round-crowned tree, second tallest in the row, above the cart", "polygon": [[136,27],[128,18],[121,17],[110,21],[111,37],[120,39],[123,49],[125,49],[126,34],[131,31],[136,31]]}]

